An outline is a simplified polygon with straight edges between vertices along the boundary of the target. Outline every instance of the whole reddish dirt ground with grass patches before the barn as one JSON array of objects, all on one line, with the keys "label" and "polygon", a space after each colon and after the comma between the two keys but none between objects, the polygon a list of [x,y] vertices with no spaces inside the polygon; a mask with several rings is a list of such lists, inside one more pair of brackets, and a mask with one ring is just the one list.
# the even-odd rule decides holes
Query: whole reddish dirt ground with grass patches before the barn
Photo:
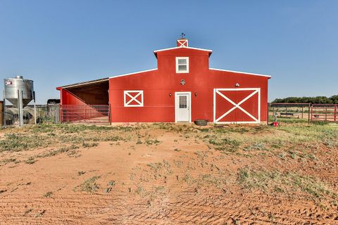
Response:
[{"label": "whole reddish dirt ground with grass patches before the barn", "polygon": [[338,126],[0,130],[0,224],[338,224]]}]

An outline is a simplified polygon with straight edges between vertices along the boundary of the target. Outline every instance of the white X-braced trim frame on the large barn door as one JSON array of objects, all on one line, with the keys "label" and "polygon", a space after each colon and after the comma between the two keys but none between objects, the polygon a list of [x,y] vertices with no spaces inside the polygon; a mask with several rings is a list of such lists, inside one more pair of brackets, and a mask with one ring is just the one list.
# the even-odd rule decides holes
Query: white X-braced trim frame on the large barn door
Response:
[{"label": "white X-braced trim frame on the large barn door", "polygon": [[[220,91],[253,91],[251,94],[246,96],[242,101],[239,101],[239,103],[234,103],[230,98],[227,98],[224,94],[220,93]],[[227,110],[227,112],[223,113],[220,117],[216,119],[216,94],[230,102],[234,107],[232,107],[230,110]],[[254,96],[255,94],[258,94],[258,117],[253,117],[251,113],[248,113],[244,108],[242,108],[240,105],[244,103],[246,100]],[[223,119],[226,115],[231,113],[235,109],[241,110],[243,113],[251,117],[254,121],[234,121],[234,122],[219,122]],[[261,123],[261,88],[242,88],[242,89],[213,89],[213,122],[215,124],[259,124]]]}]

